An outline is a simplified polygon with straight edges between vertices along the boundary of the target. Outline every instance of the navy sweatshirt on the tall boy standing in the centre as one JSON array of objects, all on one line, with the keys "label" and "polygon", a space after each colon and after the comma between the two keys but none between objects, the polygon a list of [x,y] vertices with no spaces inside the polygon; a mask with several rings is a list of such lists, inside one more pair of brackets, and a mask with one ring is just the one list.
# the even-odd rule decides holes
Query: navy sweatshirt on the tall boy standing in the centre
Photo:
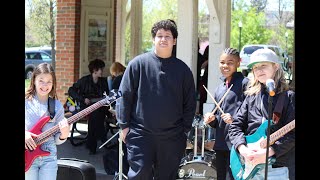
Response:
[{"label": "navy sweatshirt on the tall boy standing in the centre", "polygon": [[193,74],[176,57],[147,52],[132,59],[122,78],[116,113],[119,126],[171,136],[191,129],[196,109]]}]

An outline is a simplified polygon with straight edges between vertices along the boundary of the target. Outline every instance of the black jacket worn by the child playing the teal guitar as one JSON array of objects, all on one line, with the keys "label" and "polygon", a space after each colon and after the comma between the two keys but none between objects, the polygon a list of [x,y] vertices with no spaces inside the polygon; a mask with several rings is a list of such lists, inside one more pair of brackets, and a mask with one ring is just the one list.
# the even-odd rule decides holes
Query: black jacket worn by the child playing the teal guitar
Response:
[{"label": "black jacket worn by the child playing the teal guitar", "polygon": [[[254,134],[262,123],[262,117],[268,119],[268,92],[265,87],[257,95],[247,96],[240,110],[229,128],[229,138],[237,150],[241,144],[247,144],[245,136]],[[272,111],[276,105],[279,94],[272,98]],[[261,104],[261,101],[263,102]],[[277,124],[271,125],[270,134],[295,119],[295,93],[286,91],[284,106]],[[275,151],[276,162],[274,166],[289,168],[290,180],[294,179],[295,172],[295,129],[278,139],[271,147]]]}]

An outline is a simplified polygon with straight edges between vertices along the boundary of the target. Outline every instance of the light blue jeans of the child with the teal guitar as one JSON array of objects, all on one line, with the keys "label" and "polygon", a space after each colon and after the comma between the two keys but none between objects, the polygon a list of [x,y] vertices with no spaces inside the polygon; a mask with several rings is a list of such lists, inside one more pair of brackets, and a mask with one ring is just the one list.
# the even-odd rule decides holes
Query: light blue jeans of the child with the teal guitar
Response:
[{"label": "light blue jeans of the child with the teal guitar", "polygon": [[[260,169],[252,180],[264,180],[265,168]],[[268,166],[268,180],[289,180],[289,169],[287,167],[272,168]]]}]

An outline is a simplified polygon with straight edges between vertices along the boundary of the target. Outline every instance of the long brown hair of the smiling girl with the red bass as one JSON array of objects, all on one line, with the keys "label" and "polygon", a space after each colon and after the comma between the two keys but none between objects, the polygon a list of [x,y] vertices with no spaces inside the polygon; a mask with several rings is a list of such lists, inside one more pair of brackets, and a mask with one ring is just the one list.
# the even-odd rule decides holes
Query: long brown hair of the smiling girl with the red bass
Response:
[{"label": "long brown hair of the smiling girl with the red bass", "polygon": [[30,85],[25,93],[25,98],[26,99],[32,98],[32,96],[36,94],[35,80],[36,80],[36,77],[40,74],[51,74],[51,76],[52,76],[52,89],[49,92],[49,96],[51,98],[58,99],[57,93],[56,93],[57,79],[56,79],[54,69],[53,69],[52,65],[49,63],[41,63],[33,70],[32,77],[30,80]]}]

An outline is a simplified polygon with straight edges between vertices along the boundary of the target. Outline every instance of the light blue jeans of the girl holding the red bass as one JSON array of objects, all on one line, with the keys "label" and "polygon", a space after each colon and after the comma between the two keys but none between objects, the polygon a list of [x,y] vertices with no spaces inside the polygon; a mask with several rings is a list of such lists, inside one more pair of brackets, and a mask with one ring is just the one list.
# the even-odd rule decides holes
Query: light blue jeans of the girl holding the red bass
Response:
[{"label": "light blue jeans of the girl holding the red bass", "polygon": [[25,172],[25,180],[56,180],[57,172],[56,155],[38,157],[33,161],[30,169]]}]

